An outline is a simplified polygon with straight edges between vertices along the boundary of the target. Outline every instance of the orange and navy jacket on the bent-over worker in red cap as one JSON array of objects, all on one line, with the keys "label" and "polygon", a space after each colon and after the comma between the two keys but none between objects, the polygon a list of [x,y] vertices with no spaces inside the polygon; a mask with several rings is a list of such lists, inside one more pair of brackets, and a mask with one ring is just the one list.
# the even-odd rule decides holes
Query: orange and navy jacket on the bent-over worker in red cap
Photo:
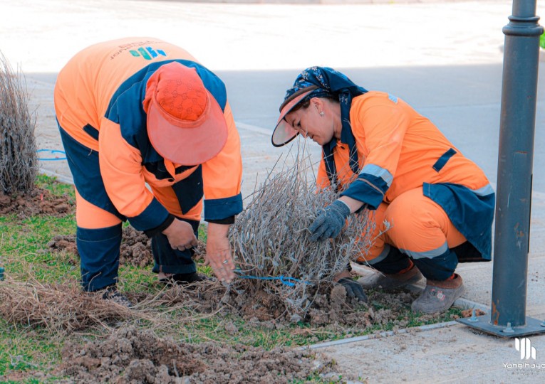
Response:
[{"label": "orange and navy jacket on the bent-over worker in red cap", "polygon": [[[146,82],[157,68],[173,60],[195,68],[224,111],[229,132],[227,144],[204,164],[172,164],[157,154],[147,137],[142,107]],[[242,211],[240,139],[224,83],[187,51],[157,38],[98,43],[75,55],[61,70],[54,97],[58,124],[76,142],[98,151],[100,175],[108,197],[135,228],[156,228],[168,215],[146,183],[177,188],[183,180],[201,172],[202,183],[194,185],[204,190],[205,220],[223,220]],[[73,175],[83,181],[78,183],[78,192],[95,203],[93,186],[85,186],[84,173],[85,170]],[[187,192],[193,197],[190,206],[181,207],[182,213],[202,198],[202,191]]]}]

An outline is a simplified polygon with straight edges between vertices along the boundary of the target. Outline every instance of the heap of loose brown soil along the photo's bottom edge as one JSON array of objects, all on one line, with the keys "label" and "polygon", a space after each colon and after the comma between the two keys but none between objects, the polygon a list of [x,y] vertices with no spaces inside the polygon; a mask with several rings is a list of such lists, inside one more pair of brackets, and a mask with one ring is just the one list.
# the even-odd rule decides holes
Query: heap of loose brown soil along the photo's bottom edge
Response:
[{"label": "heap of loose brown soil along the photo's bottom edge", "polygon": [[311,351],[183,343],[134,327],[105,341],[68,344],[62,358],[62,374],[76,383],[289,383],[334,364]]}]

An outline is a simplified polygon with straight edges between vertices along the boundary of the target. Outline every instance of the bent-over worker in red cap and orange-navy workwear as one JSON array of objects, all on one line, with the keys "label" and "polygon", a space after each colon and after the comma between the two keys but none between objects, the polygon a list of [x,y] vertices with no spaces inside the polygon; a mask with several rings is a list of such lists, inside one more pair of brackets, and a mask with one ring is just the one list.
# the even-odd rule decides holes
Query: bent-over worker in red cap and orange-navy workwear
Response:
[{"label": "bent-over worker in red cap and orange-navy workwear", "polygon": [[124,220],[152,238],[162,282],[203,279],[192,260],[203,194],[206,261],[231,281],[227,232],[242,211],[242,160],[222,80],[182,48],[123,38],[68,62],[55,110],[76,186],[85,291],[130,304],[115,286]]}]

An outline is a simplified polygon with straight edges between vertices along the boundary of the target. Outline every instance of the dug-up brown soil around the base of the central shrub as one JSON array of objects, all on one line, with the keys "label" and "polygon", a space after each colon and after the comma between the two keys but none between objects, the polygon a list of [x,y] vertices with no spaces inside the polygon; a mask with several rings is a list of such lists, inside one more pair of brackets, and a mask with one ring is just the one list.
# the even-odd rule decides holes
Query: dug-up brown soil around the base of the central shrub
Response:
[{"label": "dug-up brown soil around the base of the central shrub", "polygon": [[[192,289],[187,287],[172,287],[163,292],[160,300],[165,306],[183,304],[199,314],[217,314],[226,316],[240,316],[246,321],[249,328],[260,326],[266,329],[286,329],[290,324],[302,321],[312,328],[325,327],[332,334],[360,333],[377,326],[388,326],[401,329],[410,326],[408,312],[410,303],[417,297],[417,293],[369,291],[368,304],[358,302],[347,297],[346,289],[339,284],[323,284],[318,289],[308,290],[309,297],[313,297],[306,311],[297,311],[286,308],[285,301],[279,294],[267,292],[265,289],[251,291],[237,280],[225,287],[219,282],[199,282],[193,284]],[[150,299],[133,297],[137,301]],[[422,315],[412,321],[431,321],[436,315]],[[232,326],[226,326],[229,334],[233,333]],[[312,340],[310,340],[313,342]],[[318,341],[316,339],[316,341]]]}]

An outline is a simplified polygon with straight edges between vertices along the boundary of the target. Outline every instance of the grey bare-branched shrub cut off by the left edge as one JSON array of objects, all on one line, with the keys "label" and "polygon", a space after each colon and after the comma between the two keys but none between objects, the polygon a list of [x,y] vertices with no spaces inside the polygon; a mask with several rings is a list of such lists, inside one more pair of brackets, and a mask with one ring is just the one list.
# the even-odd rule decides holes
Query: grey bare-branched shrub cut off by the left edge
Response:
[{"label": "grey bare-branched shrub cut off by the left edge", "polygon": [[0,53],[0,193],[33,188],[38,162],[35,127],[24,77],[14,73]]}]

